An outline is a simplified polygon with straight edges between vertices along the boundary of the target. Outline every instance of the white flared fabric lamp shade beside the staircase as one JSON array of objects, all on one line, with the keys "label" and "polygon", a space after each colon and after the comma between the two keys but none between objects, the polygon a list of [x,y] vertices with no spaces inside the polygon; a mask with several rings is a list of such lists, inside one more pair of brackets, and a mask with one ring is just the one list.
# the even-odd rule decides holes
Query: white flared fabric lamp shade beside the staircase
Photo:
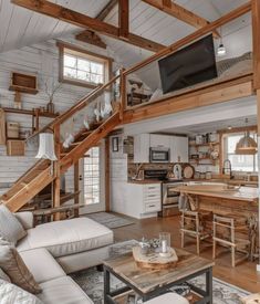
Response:
[{"label": "white flared fabric lamp shade beside the staircase", "polygon": [[35,158],[44,158],[50,160],[58,160],[54,149],[53,133],[41,133],[39,150]]}]

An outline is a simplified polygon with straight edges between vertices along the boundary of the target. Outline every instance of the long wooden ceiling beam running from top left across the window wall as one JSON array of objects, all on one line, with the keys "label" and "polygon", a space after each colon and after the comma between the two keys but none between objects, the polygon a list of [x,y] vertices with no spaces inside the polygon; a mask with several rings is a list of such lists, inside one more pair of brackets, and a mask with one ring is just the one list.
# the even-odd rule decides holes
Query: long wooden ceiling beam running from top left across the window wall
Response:
[{"label": "long wooden ceiling beam running from top left across the window wall", "polygon": [[114,27],[98,19],[91,18],[86,14],[73,11],[71,9],[64,8],[62,6],[59,6],[56,3],[53,3],[46,0],[11,0],[11,2],[19,7],[22,7],[52,18],[56,18],[59,20],[62,20],[64,22],[71,23],[80,28],[100,32],[102,34],[108,35],[117,40],[122,40],[132,45],[146,49],[152,52],[158,52],[166,48],[163,44],[138,36],[134,33],[129,33],[127,39],[121,38],[119,29],[117,27]]}]

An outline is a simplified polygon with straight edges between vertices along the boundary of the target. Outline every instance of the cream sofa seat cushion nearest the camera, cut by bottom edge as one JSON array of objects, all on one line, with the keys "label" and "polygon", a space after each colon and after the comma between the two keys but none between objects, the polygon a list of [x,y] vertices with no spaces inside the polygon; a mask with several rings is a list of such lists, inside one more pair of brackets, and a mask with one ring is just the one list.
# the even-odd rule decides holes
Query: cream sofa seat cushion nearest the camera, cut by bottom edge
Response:
[{"label": "cream sofa seat cushion nearest the camera, cut by bottom edge", "polygon": [[93,304],[70,276],[54,279],[40,285],[42,293],[38,297],[45,304]]}]

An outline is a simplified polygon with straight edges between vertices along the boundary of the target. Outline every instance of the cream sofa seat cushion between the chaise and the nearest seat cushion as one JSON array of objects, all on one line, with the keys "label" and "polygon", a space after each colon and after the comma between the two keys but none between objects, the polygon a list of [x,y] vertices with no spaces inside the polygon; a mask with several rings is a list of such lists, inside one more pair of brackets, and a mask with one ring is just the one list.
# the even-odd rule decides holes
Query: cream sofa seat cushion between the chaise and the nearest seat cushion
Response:
[{"label": "cream sofa seat cushion between the chaise and the nearest seat cushion", "polygon": [[66,275],[60,264],[44,248],[23,251],[20,255],[38,283]]}]

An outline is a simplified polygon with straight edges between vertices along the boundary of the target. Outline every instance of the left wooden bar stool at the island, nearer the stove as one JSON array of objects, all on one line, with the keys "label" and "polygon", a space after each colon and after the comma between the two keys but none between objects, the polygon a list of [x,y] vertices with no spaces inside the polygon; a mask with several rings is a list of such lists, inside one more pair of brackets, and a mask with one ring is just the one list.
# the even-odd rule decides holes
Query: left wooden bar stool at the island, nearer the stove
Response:
[{"label": "left wooden bar stool at the island, nearer the stove", "polygon": [[185,247],[185,235],[196,239],[197,254],[200,254],[200,242],[211,237],[206,222],[212,222],[212,212],[206,210],[184,211],[180,220],[181,248]]}]

